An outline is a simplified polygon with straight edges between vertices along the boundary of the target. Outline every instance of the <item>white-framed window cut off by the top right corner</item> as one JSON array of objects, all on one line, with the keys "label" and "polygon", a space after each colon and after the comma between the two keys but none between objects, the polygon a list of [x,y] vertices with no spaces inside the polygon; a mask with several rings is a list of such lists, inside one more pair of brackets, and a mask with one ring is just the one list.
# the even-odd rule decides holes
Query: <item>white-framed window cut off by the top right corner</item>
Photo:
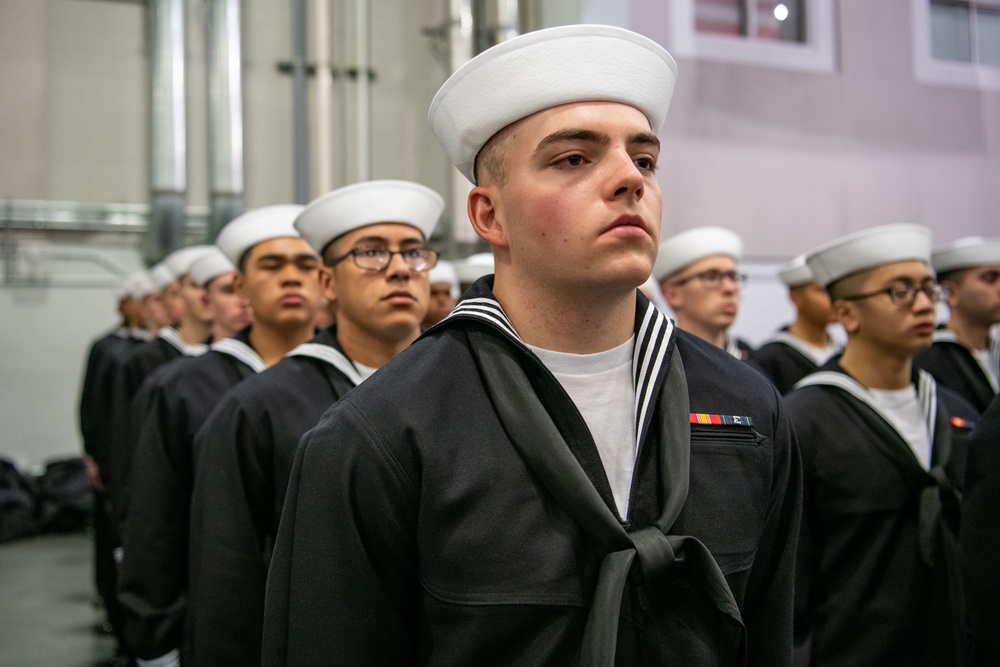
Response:
[{"label": "white-framed window cut off by the top right corner", "polygon": [[1000,89],[1000,0],[913,0],[913,27],[918,80]]}]

